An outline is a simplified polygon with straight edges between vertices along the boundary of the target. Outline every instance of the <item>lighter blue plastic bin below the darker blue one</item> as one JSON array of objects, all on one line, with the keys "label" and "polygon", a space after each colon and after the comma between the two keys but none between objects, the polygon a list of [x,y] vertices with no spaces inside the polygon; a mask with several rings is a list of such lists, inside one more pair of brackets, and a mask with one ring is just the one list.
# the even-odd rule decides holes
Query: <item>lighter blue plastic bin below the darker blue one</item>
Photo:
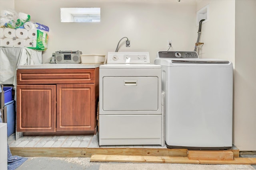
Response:
[{"label": "lighter blue plastic bin below the darker blue one", "polygon": [[6,103],[4,106],[7,107],[7,136],[9,137],[14,133],[15,127],[15,111],[14,111],[14,100]]}]

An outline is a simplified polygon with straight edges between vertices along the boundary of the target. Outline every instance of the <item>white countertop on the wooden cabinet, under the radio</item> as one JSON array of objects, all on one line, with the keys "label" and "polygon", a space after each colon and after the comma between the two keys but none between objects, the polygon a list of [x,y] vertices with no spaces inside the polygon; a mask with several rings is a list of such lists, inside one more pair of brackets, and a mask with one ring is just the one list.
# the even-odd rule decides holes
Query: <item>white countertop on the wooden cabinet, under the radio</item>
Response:
[{"label": "white countertop on the wooden cabinet, under the radio", "polygon": [[17,69],[97,68],[102,64],[40,64],[18,65]]}]

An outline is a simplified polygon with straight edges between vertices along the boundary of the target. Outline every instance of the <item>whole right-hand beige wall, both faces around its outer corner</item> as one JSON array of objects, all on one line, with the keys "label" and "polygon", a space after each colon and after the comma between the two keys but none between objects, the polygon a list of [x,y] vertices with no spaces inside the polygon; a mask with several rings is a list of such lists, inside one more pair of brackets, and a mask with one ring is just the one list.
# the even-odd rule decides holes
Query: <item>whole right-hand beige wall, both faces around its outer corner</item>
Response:
[{"label": "whole right-hand beige wall, both faces around its outer corner", "polygon": [[232,61],[233,144],[240,150],[256,150],[256,1],[197,0],[196,10],[208,4],[200,56]]}]

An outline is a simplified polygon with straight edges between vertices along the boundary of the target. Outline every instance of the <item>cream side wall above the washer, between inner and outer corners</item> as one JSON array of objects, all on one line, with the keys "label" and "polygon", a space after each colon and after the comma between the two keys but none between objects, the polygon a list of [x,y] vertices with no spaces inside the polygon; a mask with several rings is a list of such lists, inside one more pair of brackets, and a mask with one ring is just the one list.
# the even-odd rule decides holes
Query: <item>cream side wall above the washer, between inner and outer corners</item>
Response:
[{"label": "cream side wall above the washer, between inner and outer corners", "polygon": [[202,24],[200,57],[225,59],[235,67],[235,1],[198,0],[196,10],[209,4],[208,22]]}]

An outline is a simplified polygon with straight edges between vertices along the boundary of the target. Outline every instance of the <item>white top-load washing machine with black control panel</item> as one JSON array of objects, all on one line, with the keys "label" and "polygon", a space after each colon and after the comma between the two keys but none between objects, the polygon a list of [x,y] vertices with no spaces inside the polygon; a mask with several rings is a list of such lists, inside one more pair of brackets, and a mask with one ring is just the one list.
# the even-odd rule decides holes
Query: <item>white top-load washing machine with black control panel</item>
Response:
[{"label": "white top-load washing machine with black control panel", "polygon": [[168,148],[232,147],[233,67],[195,51],[159,51]]}]

